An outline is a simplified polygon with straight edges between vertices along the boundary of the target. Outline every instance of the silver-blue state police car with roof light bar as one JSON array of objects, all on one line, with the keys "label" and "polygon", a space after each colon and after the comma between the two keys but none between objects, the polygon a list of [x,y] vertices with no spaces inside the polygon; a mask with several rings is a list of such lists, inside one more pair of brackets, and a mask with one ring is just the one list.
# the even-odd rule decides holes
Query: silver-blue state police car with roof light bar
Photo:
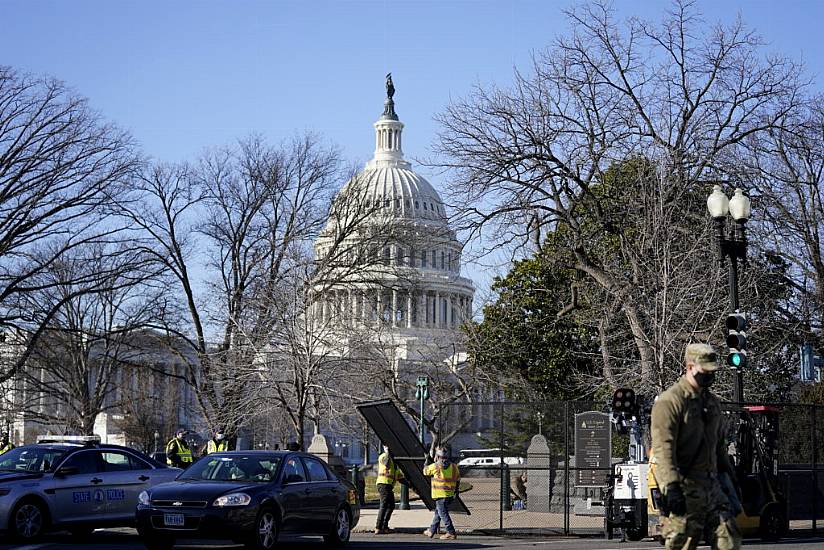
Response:
[{"label": "silver-blue state police car with roof light bar", "polygon": [[180,473],[118,445],[47,443],[0,455],[0,531],[31,541],[135,521],[137,496]]}]

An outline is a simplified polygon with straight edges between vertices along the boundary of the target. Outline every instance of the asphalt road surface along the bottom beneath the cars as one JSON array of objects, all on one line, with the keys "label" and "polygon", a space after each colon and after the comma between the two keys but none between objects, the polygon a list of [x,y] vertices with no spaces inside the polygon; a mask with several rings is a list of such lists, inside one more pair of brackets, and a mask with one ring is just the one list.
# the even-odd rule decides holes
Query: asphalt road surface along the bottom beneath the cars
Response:
[{"label": "asphalt road surface along the bottom beneath the cars", "polygon": [[[421,535],[393,534],[393,535],[370,535],[355,534],[352,536],[348,549],[370,549],[392,548],[393,550],[419,550],[431,549],[433,547],[448,545],[456,549],[473,548],[506,548],[509,550],[520,550],[527,548],[547,549],[547,550],[647,550],[660,549],[657,542],[626,542],[621,543],[615,540],[608,541],[598,538],[508,538],[508,537],[488,537],[488,536],[461,536],[456,541],[429,540]],[[763,544],[759,541],[745,543],[748,550],[824,550],[824,538],[810,538],[786,540],[778,543]],[[321,539],[282,539],[281,548],[304,548],[322,549],[325,548]],[[90,550],[143,550],[140,539],[132,529],[116,529],[107,531],[97,531],[92,537],[83,543],[75,543],[70,535],[56,534],[47,537],[38,544],[27,546],[2,544],[0,550],[16,548],[17,550],[66,550],[69,548],[84,548]],[[218,549],[241,549],[242,546],[220,543],[204,543],[200,541],[184,541],[175,548],[206,550]],[[702,546],[699,548],[708,548]]]}]

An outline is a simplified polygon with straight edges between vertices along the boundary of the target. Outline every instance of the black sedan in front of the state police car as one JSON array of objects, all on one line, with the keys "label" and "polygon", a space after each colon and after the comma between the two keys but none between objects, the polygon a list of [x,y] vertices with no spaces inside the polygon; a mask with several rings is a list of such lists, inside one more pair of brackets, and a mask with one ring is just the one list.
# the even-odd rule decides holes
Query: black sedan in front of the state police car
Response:
[{"label": "black sedan in front of the state police car", "polygon": [[175,539],[229,539],[274,548],[281,533],[349,541],[357,493],[314,455],[289,451],[214,453],[138,498],[137,529],[151,550]]}]

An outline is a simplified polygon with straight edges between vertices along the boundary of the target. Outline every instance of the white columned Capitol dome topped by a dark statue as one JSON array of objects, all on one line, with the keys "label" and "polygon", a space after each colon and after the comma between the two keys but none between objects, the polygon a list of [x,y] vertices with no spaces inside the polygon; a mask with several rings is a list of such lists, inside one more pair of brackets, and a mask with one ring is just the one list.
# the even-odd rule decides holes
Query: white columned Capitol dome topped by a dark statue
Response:
[{"label": "white columned Capitol dome topped by a dark statue", "polygon": [[[335,203],[347,205],[347,213],[336,215],[333,206],[315,242],[318,259],[342,238],[347,249],[365,250],[372,261],[342,284],[324,287],[313,316],[340,329],[346,351],[347,329],[371,327],[376,338],[392,343],[402,369],[404,362],[432,363],[455,353],[458,327],[472,316],[475,287],[461,276],[462,245],[440,195],[404,160],[404,124],[395,113],[391,75],[386,88],[383,114],[374,123],[374,158],[338,192]],[[357,212],[364,212],[357,228],[341,237],[341,226]]]}]

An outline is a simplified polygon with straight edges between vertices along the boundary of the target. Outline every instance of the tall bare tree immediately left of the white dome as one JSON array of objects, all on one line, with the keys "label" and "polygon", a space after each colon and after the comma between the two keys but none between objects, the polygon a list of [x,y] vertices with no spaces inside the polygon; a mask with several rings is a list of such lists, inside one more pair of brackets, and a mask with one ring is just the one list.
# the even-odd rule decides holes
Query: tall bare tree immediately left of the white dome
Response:
[{"label": "tall bare tree immediately left of the white dome", "polygon": [[148,167],[143,202],[125,206],[181,293],[180,322],[165,328],[196,350],[186,378],[211,425],[236,430],[257,413],[281,287],[323,227],[339,177],[337,151],[314,135],[280,147],[251,137],[195,167]]}]

